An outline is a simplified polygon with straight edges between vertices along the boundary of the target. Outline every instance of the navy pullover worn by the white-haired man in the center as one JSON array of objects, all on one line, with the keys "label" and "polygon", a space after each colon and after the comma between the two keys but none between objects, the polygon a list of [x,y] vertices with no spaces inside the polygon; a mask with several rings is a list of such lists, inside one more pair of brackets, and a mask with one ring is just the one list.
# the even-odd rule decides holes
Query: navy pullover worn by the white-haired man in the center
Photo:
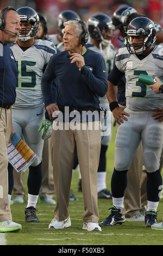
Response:
[{"label": "navy pullover worn by the white-haired man in the center", "polygon": [[70,63],[70,57],[62,51],[49,60],[41,82],[45,105],[54,103],[51,82],[57,78],[58,105],[99,109],[99,96],[103,97],[108,90],[104,58],[87,49],[83,53],[85,66],[79,70],[76,63]]}]

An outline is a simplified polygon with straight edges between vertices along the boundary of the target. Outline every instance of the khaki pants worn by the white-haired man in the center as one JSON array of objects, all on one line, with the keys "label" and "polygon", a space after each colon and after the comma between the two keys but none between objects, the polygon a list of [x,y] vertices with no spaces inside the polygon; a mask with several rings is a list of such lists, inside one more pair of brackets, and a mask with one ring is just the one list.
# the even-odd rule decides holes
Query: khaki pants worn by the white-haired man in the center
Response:
[{"label": "khaki pants worn by the white-haired man in the center", "polygon": [[[97,169],[101,150],[101,129],[90,130],[90,123],[99,124],[99,121],[88,122],[86,130],[65,129],[52,130],[51,156],[53,177],[57,205],[54,217],[63,221],[69,216],[68,204],[74,156],[77,149],[80,172],[82,175],[82,191],[84,199],[84,222],[98,222],[97,206]],[[54,124],[54,121],[53,121]],[[69,123],[68,123],[69,124]],[[60,123],[62,126],[63,123]],[[81,123],[77,122],[80,127]]]}]

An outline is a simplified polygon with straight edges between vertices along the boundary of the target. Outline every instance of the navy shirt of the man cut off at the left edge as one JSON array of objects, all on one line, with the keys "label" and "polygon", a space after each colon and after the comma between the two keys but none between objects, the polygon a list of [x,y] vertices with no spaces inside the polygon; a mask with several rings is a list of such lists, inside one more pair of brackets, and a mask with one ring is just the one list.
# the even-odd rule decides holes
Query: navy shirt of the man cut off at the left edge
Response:
[{"label": "navy shirt of the man cut off at the left edge", "polygon": [[12,50],[0,41],[0,107],[15,103],[17,82],[17,66]]}]

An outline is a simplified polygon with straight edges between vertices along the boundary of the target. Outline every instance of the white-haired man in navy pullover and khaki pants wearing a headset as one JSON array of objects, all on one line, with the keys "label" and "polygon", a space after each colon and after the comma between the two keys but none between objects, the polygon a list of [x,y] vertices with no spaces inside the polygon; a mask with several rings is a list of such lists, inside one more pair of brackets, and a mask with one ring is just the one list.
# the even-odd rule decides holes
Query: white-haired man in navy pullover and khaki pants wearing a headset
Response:
[{"label": "white-haired man in navy pullover and khaki pants wearing a headset", "polygon": [[[65,116],[65,106],[70,107],[74,115],[75,110],[80,113],[82,110],[99,110],[98,98],[103,97],[108,88],[103,57],[84,46],[88,39],[85,23],[80,20],[70,20],[65,22],[64,26],[65,51],[51,57],[42,77],[42,92],[50,117],[59,109]],[[58,79],[57,104],[53,102],[51,94],[51,81],[54,78]],[[90,124],[99,124],[99,116],[97,120],[95,118],[95,122],[82,120],[80,123],[79,118],[77,122],[79,129],[74,130],[71,127],[67,129],[69,121],[68,119],[65,123],[59,122],[59,126],[63,125],[63,129],[52,129],[51,152],[57,206],[49,228],[62,229],[71,226],[67,208],[74,155],[77,150],[85,209],[83,229],[101,231],[98,225],[97,206],[97,169],[101,150],[101,130],[89,129]],[[53,128],[56,123],[53,121]],[[80,129],[83,123],[85,130]]]}]

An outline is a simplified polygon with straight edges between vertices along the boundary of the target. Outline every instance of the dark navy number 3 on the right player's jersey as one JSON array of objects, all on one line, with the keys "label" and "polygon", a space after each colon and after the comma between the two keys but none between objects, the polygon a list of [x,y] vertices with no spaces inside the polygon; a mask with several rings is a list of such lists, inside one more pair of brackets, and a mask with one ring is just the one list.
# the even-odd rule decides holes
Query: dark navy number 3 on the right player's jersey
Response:
[{"label": "dark navy number 3 on the right player's jersey", "polygon": [[[138,76],[140,74],[145,74],[148,75],[148,73],[146,72],[146,70],[134,70],[134,75]],[[147,85],[142,84],[141,82],[136,81],[136,85],[135,86],[139,86],[141,88],[140,92],[132,92],[132,97],[135,98],[144,98],[147,95]]]}]

